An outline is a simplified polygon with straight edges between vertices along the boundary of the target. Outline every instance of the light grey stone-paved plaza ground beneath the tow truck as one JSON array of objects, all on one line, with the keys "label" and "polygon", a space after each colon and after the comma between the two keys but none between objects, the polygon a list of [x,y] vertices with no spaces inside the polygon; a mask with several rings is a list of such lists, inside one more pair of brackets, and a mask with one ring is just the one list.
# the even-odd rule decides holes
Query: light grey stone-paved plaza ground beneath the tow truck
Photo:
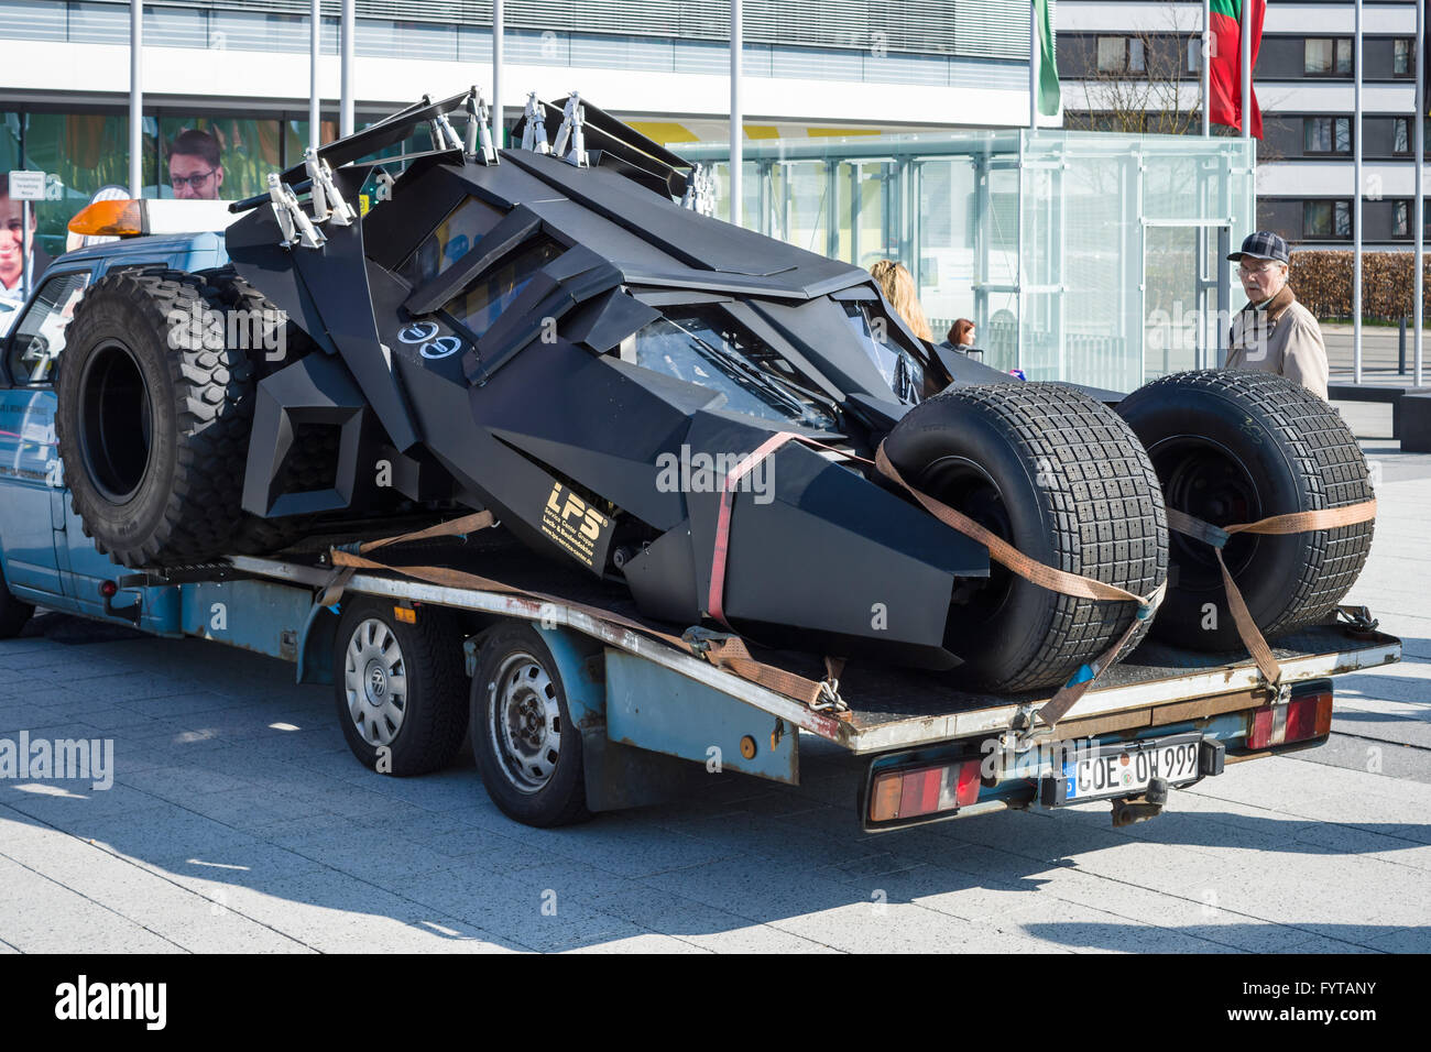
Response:
[{"label": "light grey stone-paved plaza ground beneath the tow truck", "polygon": [[286,664],[43,615],[0,641],[0,737],[112,739],[116,771],[0,780],[0,952],[1431,952],[1431,457],[1368,455],[1351,600],[1405,661],[1339,680],[1325,747],[1122,830],[1089,804],[866,836],[860,761],[809,736],[800,787],[528,829],[469,753],[362,769]]}]

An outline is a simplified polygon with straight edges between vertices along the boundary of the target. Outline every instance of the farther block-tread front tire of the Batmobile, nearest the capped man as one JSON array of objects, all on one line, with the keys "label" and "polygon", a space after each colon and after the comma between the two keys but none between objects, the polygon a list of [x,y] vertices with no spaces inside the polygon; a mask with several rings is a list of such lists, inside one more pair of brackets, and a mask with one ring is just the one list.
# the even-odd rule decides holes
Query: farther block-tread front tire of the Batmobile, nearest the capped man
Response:
[{"label": "farther block-tread front tire of the Batmobile, nearest the capped man", "polygon": [[[1169,508],[1213,525],[1371,500],[1367,459],[1341,415],[1268,372],[1206,369],[1148,384],[1118,406],[1148,447]],[[1224,558],[1266,637],[1332,613],[1361,574],[1372,524],[1285,537],[1235,534]],[[1242,647],[1216,557],[1172,535],[1158,638],[1198,650]]]}]

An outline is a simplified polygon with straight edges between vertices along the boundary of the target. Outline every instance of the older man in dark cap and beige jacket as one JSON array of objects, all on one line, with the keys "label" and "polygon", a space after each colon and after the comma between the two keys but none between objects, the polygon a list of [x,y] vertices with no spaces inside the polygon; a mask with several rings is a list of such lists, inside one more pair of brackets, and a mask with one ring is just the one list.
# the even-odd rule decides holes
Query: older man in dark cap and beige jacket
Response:
[{"label": "older man in dark cap and beige jacket", "polygon": [[1232,319],[1226,368],[1275,372],[1327,398],[1327,345],[1312,312],[1296,302],[1286,283],[1286,242],[1258,230],[1228,259],[1239,263],[1248,305]]}]

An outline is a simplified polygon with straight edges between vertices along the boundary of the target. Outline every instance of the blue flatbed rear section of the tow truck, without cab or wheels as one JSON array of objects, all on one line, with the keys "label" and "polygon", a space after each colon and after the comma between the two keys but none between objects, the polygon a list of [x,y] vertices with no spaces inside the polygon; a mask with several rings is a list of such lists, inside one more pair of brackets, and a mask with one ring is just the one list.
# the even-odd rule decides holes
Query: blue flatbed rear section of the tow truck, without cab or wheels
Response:
[{"label": "blue flatbed rear section of the tow truck, without cab or wheels", "polygon": [[[1053,729],[1037,720],[1052,691],[985,694],[954,688],[939,674],[860,663],[840,674],[830,698],[807,704],[633,627],[637,615],[624,590],[571,574],[502,531],[391,551],[386,558],[395,564],[458,568],[505,588],[451,587],[363,570],[345,581],[333,603],[323,593],[335,581],[335,567],[319,542],[283,558],[235,555],[222,568],[193,571],[209,580],[116,578],[106,613],[145,623],[146,610],[173,610],[177,621],[167,630],[147,627],[295,661],[301,683],[336,684],[339,719],[345,676],[349,697],[353,688],[352,670],[342,667],[352,644],[341,633],[345,604],[366,604],[395,631],[401,623],[431,618],[456,625],[451,638],[462,647],[467,677],[481,670],[495,628],[527,625],[544,644],[541,674],[555,684],[562,719],[580,736],[577,812],[698,792],[708,771],[798,784],[798,731],[804,731],[869,759],[857,807],[870,832],[1093,799],[1112,800],[1118,824],[1152,817],[1168,803],[1169,787],[1219,774],[1226,763],[1325,741],[1331,677],[1401,656],[1400,640],[1365,623],[1314,625],[1274,643],[1284,670],[1278,694],[1246,654],[1143,643],[1102,674]],[[136,588],[140,595],[126,608],[123,593]],[[215,618],[220,608],[222,618]],[[657,630],[673,631],[653,625]],[[821,676],[814,656],[757,653],[788,671]],[[439,703],[471,704],[481,767],[478,734],[499,739],[501,731],[481,720],[481,696],[492,684],[472,681],[471,697],[467,686],[464,680],[461,697]],[[384,770],[371,754],[356,747],[355,753]],[[571,754],[568,741],[561,759]],[[491,766],[482,776],[492,792]],[[518,797],[515,813],[504,810],[534,824],[555,824],[548,822],[550,807],[528,814],[524,803]],[[560,812],[564,820],[568,812]]]}]

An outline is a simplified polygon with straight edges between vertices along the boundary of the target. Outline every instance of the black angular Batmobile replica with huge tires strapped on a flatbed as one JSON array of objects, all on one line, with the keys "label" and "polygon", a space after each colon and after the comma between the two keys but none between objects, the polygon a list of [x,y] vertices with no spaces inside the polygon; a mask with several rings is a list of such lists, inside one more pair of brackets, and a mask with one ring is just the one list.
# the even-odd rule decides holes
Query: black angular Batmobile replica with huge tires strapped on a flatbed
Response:
[{"label": "black angular Batmobile replica with huge tires strapped on a flatbed", "polygon": [[[435,147],[395,180],[362,160],[422,126]],[[708,175],[577,96],[534,99],[518,139],[492,146],[475,90],[425,99],[238,202],[229,268],[96,282],[57,428],[100,551],[180,565],[489,510],[647,618],[1029,690],[1139,604],[1010,573],[916,491],[1035,564],[1163,588],[1126,647],[1151,623],[1205,648],[1239,637],[1216,551],[1168,508],[1225,525],[1371,497],[1295,384],[1025,382],[917,339],[867,272],[705,215]],[[266,339],[240,345],[235,318]],[[1275,635],[1329,615],[1371,528],[1238,534],[1222,558]]]}]

